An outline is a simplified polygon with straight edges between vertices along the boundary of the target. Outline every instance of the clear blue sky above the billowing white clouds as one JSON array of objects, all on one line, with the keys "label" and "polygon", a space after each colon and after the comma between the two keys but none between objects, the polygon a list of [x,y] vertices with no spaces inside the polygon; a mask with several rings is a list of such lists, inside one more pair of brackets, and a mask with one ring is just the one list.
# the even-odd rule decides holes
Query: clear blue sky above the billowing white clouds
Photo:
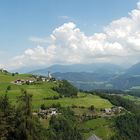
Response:
[{"label": "clear blue sky above the billowing white clouds", "polygon": [[112,21],[128,16],[138,0],[1,0],[0,63],[36,47],[31,37],[45,38],[73,22],[90,36]]}]

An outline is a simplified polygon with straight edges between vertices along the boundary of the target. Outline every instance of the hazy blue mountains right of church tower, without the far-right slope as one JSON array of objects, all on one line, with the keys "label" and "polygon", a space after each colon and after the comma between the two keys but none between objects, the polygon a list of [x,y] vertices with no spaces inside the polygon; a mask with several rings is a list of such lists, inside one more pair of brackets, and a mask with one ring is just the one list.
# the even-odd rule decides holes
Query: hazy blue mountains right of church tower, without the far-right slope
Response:
[{"label": "hazy blue mountains right of church tower, without the far-right slope", "polygon": [[[66,79],[78,88],[92,90],[109,88],[108,81],[124,71],[121,66],[109,63],[53,65],[31,71],[31,74],[47,75],[48,71],[57,79]],[[111,86],[112,87],[112,86]]]}]

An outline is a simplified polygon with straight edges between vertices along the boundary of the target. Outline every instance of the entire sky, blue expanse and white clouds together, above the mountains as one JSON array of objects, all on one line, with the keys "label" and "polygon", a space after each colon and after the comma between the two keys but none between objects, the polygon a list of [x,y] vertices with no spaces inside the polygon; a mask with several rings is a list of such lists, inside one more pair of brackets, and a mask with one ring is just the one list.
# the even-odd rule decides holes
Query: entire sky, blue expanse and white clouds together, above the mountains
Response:
[{"label": "entire sky, blue expanse and white clouds together, above the mountains", "polygon": [[134,64],[139,0],[0,0],[0,67]]}]

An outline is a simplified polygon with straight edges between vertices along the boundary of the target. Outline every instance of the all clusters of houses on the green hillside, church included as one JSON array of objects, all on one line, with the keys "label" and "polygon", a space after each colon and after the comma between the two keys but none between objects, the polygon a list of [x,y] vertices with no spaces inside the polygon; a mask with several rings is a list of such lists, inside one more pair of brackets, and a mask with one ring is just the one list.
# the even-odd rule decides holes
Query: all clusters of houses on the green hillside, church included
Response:
[{"label": "all clusters of houses on the green hillside, church included", "polygon": [[[8,71],[4,69],[0,69],[0,72],[7,74]],[[13,73],[12,76],[18,75],[18,73]],[[37,82],[56,82],[56,79],[52,76],[52,74],[48,71],[47,76],[41,76],[41,75],[32,75],[28,79],[16,79],[15,81],[12,81],[12,84],[16,85],[32,85],[37,84]],[[52,99],[52,98],[51,98]],[[73,107],[72,107],[73,108]],[[85,114],[86,117],[91,116],[100,116],[100,117],[109,117],[114,116],[116,114],[120,114],[124,110],[121,106],[114,106],[112,108],[103,108],[98,113],[94,110],[92,113]],[[77,112],[75,112],[77,114]],[[33,112],[34,115],[38,115],[40,118],[47,119],[50,118],[52,115],[58,115],[60,114],[58,112],[58,109],[55,107],[49,107],[49,108],[40,108],[38,111]],[[79,114],[77,114],[79,115]]]}]

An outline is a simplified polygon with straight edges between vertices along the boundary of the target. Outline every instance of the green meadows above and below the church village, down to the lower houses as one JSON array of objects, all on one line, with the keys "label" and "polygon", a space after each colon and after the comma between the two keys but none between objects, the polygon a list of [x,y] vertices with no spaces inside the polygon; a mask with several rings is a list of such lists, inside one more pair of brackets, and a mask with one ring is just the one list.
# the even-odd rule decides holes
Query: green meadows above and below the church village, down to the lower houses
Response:
[{"label": "green meadows above and below the church village, down to the lower houses", "polygon": [[[11,76],[10,74],[0,74],[0,95],[7,94],[10,100],[14,103],[17,100],[17,96],[20,95],[21,89],[33,95],[33,107],[39,108],[41,104],[50,106],[55,103],[60,103],[62,106],[83,106],[89,107],[94,105],[96,108],[109,108],[112,104],[105,99],[100,98],[96,95],[90,95],[85,93],[78,93],[78,98],[60,98],[57,100],[44,100],[44,98],[53,97],[59,95],[57,92],[52,90],[52,87],[56,86],[54,82],[42,82],[36,85],[16,85],[11,82],[17,79],[30,79],[31,75],[21,74]],[[6,88],[11,86],[11,89],[6,92]]]}]

